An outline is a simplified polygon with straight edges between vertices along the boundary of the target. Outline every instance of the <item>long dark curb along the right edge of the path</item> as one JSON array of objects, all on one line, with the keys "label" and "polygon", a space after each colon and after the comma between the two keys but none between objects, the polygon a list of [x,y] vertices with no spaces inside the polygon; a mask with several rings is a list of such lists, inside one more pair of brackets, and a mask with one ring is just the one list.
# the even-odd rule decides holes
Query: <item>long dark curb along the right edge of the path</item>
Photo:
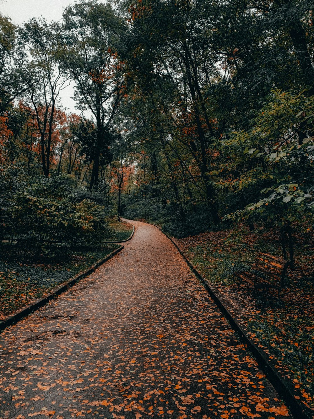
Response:
[{"label": "long dark curb along the right edge of the path", "polygon": [[185,262],[188,264],[189,268],[195,274],[195,276],[202,282],[203,286],[206,288],[210,296],[213,298],[214,302],[216,303],[219,310],[223,313],[224,317],[229,322],[230,326],[238,333],[241,341],[245,344],[245,347],[250,350],[253,357],[257,361],[260,369],[265,372],[267,375],[267,379],[273,385],[277,393],[283,398],[285,403],[289,406],[291,413],[295,415],[298,419],[313,419],[314,418],[314,411],[311,409],[307,409],[306,406],[301,404],[294,396],[294,388],[291,383],[284,380],[283,377],[278,373],[275,369],[275,366],[270,360],[268,360],[267,355],[265,352],[260,349],[260,347],[255,344],[252,339],[247,335],[247,331],[243,326],[240,325],[240,319],[231,313],[230,311],[230,304],[225,300],[224,296],[221,294],[219,290],[214,288],[212,285],[209,285],[206,279],[201,275],[193,266],[193,264],[189,261],[188,257],[185,256],[183,251],[180,249],[177,243],[167,234],[165,233],[162,228],[158,225],[149,222],[148,224],[154,225],[157,227],[165,236],[174,244],[174,246],[178,249],[180,255],[183,257]]}]

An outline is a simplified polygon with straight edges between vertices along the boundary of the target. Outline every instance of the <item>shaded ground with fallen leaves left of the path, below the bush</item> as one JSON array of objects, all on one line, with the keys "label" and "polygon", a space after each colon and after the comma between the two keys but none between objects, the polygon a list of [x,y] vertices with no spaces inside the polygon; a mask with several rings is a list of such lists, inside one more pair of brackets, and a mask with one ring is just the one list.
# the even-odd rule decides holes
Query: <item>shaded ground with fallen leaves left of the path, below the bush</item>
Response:
[{"label": "shaded ground with fallen leaves left of the path, below the bush", "polygon": [[89,269],[117,247],[108,244],[98,250],[71,250],[48,259],[35,251],[3,244],[0,254],[0,321]]}]

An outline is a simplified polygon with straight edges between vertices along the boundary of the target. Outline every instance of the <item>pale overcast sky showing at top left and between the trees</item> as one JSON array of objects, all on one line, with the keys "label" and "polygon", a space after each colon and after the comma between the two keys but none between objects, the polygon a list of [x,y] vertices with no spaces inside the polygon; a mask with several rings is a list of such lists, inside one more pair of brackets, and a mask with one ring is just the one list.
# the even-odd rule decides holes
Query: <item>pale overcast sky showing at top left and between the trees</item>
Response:
[{"label": "pale overcast sky showing at top left and between the trees", "polygon": [[[0,0],[0,13],[8,16],[16,25],[39,16],[43,16],[47,21],[58,21],[62,18],[62,10],[73,3],[73,0]],[[62,91],[62,107],[69,112],[80,114],[80,111],[75,109],[75,101],[71,96],[73,96],[71,86]]]}]

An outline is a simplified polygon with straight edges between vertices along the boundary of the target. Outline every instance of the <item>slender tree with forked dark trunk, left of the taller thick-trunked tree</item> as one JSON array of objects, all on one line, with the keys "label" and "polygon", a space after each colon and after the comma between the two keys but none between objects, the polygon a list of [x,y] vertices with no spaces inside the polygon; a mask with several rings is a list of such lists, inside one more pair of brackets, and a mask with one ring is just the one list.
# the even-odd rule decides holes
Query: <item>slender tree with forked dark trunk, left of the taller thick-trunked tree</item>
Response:
[{"label": "slender tree with forked dark trunk, left of the taller thick-trunked tree", "polygon": [[64,68],[58,61],[59,26],[44,19],[31,19],[19,29],[19,50],[15,62],[27,85],[28,99],[36,114],[40,132],[41,164],[44,176],[49,176],[51,141],[56,102],[69,84]]}]

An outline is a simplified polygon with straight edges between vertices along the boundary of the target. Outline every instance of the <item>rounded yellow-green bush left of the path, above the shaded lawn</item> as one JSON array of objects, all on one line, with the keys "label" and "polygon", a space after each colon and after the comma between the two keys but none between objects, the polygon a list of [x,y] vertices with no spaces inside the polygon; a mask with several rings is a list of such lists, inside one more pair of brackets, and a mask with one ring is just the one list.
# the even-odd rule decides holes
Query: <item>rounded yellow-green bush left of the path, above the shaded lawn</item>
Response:
[{"label": "rounded yellow-green bush left of the path, above the shaded lawn", "polygon": [[72,182],[69,176],[51,176],[18,188],[2,207],[5,234],[47,256],[54,255],[51,246],[64,251],[64,246],[98,245],[108,238],[105,208],[90,199],[75,202]]}]

